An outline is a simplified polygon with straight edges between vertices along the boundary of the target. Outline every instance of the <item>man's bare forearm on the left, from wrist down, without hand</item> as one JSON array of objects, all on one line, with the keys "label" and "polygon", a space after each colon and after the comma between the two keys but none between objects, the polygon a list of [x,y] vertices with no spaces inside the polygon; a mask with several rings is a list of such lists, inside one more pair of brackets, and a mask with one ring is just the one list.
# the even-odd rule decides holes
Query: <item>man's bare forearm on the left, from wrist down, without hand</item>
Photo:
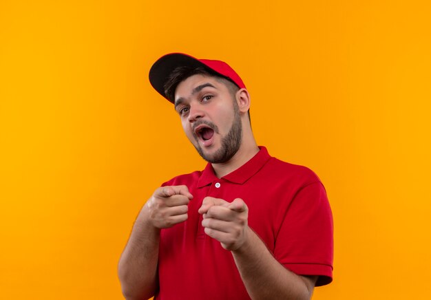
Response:
[{"label": "man's bare forearm on the left, from wrist down, without hand", "polygon": [[154,295],[159,242],[160,229],[151,226],[143,209],[118,263],[118,277],[126,299],[148,299]]}]

